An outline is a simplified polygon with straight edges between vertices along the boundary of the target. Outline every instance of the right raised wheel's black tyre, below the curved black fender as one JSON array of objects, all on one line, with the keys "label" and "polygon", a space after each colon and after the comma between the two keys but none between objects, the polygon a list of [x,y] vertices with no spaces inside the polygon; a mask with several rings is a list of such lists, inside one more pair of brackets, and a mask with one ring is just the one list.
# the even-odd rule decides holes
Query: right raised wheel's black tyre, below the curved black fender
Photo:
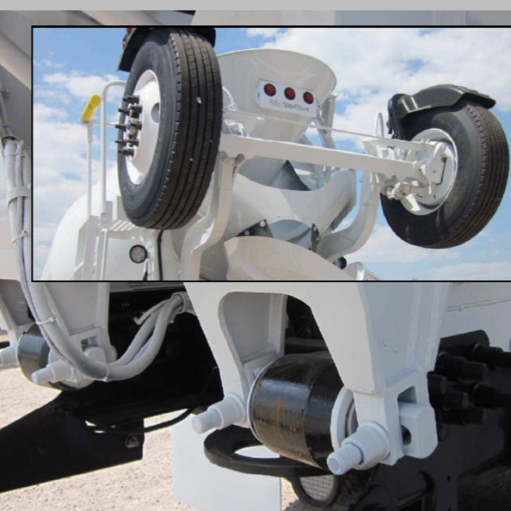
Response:
[{"label": "right raised wheel's black tyre, below the curved black fender", "polygon": [[422,196],[402,201],[381,196],[391,229],[424,248],[467,243],[488,225],[504,196],[510,162],[503,128],[486,108],[469,101],[411,115],[404,128],[407,140],[443,141],[455,159],[446,161],[442,184]]}]

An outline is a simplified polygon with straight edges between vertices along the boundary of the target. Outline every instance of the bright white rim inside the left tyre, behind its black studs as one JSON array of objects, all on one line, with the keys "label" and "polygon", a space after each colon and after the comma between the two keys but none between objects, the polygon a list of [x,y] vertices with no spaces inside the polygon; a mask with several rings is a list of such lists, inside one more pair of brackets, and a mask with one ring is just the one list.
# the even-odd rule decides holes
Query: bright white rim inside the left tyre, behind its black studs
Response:
[{"label": "bright white rim inside the left tyre, behind its black studs", "polygon": [[156,74],[151,70],[144,72],[132,95],[140,98],[142,129],[139,131],[139,146],[133,147],[134,156],[127,157],[126,163],[131,182],[141,184],[146,179],[151,163],[153,163],[160,130],[161,96]]}]

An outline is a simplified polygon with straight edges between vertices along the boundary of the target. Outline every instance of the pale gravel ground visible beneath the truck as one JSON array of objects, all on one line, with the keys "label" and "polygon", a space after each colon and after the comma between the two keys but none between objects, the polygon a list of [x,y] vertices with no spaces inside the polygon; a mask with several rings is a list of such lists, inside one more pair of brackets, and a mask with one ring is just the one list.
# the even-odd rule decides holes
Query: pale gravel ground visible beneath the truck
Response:
[{"label": "pale gravel ground visible beneath the truck", "polygon": [[[0,338],[0,341],[2,339]],[[18,370],[0,372],[0,427],[44,405],[55,391],[30,384]],[[160,420],[165,419],[161,417]],[[8,462],[8,461],[7,461]],[[148,435],[144,460],[62,481],[0,494],[0,510],[37,511],[193,511],[172,499],[170,431]],[[462,484],[460,510],[504,511],[511,508],[511,475],[486,484]],[[282,509],[306,511],[296,500],[291,486],[282,484]],[[262,510],[263,511],[263,510]]]}]

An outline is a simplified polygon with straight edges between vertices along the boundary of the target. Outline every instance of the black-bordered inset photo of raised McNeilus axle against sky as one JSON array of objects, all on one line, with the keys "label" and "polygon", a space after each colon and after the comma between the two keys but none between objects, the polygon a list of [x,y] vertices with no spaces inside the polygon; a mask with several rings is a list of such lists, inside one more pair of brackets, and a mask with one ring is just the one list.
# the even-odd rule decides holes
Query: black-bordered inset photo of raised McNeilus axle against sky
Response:
[{"label": "black-bordered inset photo of raised McNeilus axle against sky", "polygon": [[506,28],[176,16],[33,27],[35,280],[511,279]]}]

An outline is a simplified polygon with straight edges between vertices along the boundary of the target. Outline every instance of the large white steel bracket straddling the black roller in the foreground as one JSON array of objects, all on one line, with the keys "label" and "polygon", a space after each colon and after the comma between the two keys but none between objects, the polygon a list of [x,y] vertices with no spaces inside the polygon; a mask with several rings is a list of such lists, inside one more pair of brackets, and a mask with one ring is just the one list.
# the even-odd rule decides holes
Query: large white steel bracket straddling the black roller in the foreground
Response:
[{"label": "large white steel bracket straddling the black roller in the foreground", "polygon": [[[187,283],[192,303],[220,367],[225,393],[246,399],[253,370],[282,355],[284,296],[310,305],[336,367],[353,392],[358,423],[379,424],[393,465],[405,455],[399,403],[420,420],[407,453],[430,455],[436,423],[427,388],[434,368],[450,283],[229,282]],[[265,355],[267,358],[265,359]],[[432,410],[431,410],[432,411]],[[340,420],[345,418],[339,418]]]}]

